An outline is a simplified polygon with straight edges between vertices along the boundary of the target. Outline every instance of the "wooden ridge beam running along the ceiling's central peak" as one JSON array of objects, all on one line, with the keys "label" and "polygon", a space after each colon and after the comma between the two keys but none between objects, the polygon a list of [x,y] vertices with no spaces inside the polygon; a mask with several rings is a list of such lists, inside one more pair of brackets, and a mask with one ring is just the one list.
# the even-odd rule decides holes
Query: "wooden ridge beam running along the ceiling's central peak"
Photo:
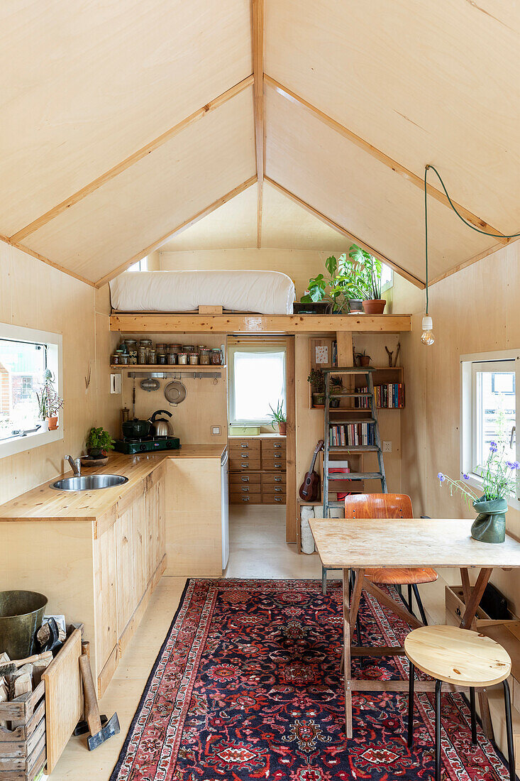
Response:
[{"label": "wooden ridge beam running along the ceiling's central peak", "polygon": [[264,188],[264,0],[251,0],[251,40],[255,78],[255,149],[258,180],[257,247],[262,246],[262,200]]}]

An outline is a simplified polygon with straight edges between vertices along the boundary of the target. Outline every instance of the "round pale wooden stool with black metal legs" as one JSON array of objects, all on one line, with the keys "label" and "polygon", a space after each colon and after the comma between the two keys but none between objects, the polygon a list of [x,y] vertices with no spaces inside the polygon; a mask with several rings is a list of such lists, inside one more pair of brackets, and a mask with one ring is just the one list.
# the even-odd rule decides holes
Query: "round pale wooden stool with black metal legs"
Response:
[{"label": "round pale wooden stool with black metal legs", "polygon": [[408,747],[413,744],[415,667],[436,679],[435,684],[435,778],[440,781],[440,689],[444,683],[469,686],[472,713],[472,743],[476,744],[475,687],[504,686],[506,729],[508,734],[509,777],[515,781],[515,752],[511,726],[511,696],[508,675],[511,658],[500,644],[478,632],[456,626],[422,626],[404,640],[404,652],[410,662],[408,689]]}]

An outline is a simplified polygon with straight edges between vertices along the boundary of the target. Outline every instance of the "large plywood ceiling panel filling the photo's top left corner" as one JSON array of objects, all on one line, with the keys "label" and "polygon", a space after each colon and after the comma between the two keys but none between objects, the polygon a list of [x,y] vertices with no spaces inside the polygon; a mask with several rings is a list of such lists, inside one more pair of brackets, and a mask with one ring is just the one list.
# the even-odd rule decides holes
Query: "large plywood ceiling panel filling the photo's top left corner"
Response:
[{"label": "large plywood ceiling panel filling the photo's top left corner", "polygon": [[247,0],[2,4],[0,232],[248,77],[250,26]]}]

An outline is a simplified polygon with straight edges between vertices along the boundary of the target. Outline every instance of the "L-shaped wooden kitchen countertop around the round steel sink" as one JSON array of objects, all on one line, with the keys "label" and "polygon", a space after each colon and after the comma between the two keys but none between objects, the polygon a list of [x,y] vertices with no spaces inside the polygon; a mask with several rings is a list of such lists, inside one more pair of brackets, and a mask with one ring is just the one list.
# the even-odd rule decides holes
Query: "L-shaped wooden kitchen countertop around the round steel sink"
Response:
[{"label": "L-shaped wooden kitchen countertop around the round steel sink", "polygon": [[59,521],[91,520],[95,521],[108,512],[128,491],[132,490],[144,477],[157,469],[166,459],[172,458],[221,458],[226,445],[184,445],[180,450],[145,453],[143,455],[123,455],[112,453],[109,463],[97,469],[84,469],[84,474],[116,474],[128,478],[128,483],[113,488],[92,491],[62,491],[49,487],[60,477],[71,477],[72,471],[56,476],[53,480],[21,494],[19,497],[0,505],[0,522],[17,520]]}]

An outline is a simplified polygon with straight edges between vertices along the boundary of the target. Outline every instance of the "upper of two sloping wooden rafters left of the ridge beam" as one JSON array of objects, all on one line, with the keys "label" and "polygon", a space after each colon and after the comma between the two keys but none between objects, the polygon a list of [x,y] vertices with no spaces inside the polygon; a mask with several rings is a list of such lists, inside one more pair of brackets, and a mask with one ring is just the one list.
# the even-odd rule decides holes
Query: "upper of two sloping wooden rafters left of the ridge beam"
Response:
[{"label": "upper of two sloping wooden rafters left of the ridge beam", "polygon": [[10,237],[10,241],[13,244],[13,246],[16,246],[17,242],[22,241],[22,239],[24,239],[26,236],[29,236],[29,234],[34,234],[34,232],[38,230],[38,228],[41,228],[42,226],[46,225],[48,222],[50,222],[52,219],[57,217],[59,214],[65,212],[66,209],[69,209],[71,206],[77,204],[78,201],[81,201],[83,200],[83,198],[86,198],[87,195],[90,195],[94,191],[98,190],[99,187],[102,187],[103,184],[106,184],[114,177],[117,177],[119,173],[123,173],[123,171],[126,171],[126,169],[130,168],[130,166],[133,166],[135,162],[142,160],[144,157],[146,157],[146,155],[149,155],[151,152],[154,152],[155,149],[162,146],[162,144],[166,144],[166,141],[169,141],[171,138],[179,134],[181,130],[184,130],[186,127],[193,124],[194,122],[197,122],[198,119],[201,119],[201,117],[206,116],[206,114],[215,111],[215,109],[218,109],[219,106],[231,100],[231,98],[234,98],[235,95],[238,95],[240,92],[244,91],[248,87],[251,87],[251,84],[253,84],[254,81],[255,78],[252,76],[252,74],[251,76],[248,76],[247,78],[239,81],[238,84],[235,84],[233,87],[230,87],[230,89],[223,92],[222,95],[219,95],[217,98],[214,98],[213,100],[209,101],[208,103],[206,103],[206,105],[201,106],[200,109],[194,111],[192,114],[190,114],[190,116],[187,116],[185,119],[182,119],[176,125],[170,127],[169,130],[166,130],[164,133],[162,133],[160,136],[155,138],[153,141],[150,141],[149,144],[145,144],[145,146],[141,147],[141,149],[138,149],[137,152],[134,152],[132,155],[124,159],[122,162],[119,162],[116,166],[111,168],[109,171],[103,173],[101,177],[94,179],[93,181],[91,181],[90,184],[85,185],[85,187],[82,187],[76,193],[69,196],[69,198],[66,198],[65,201],[62,201],[58,205],[54,206],[52,209],[49,209],[48,212],[45,212],[45,214],[42,214],[41,217],[34,219],[32,223],[29,223],[29,225],[26,225],[24,228],[22,228],[22,230],[19,230],[16,234],[13,234]]}]

